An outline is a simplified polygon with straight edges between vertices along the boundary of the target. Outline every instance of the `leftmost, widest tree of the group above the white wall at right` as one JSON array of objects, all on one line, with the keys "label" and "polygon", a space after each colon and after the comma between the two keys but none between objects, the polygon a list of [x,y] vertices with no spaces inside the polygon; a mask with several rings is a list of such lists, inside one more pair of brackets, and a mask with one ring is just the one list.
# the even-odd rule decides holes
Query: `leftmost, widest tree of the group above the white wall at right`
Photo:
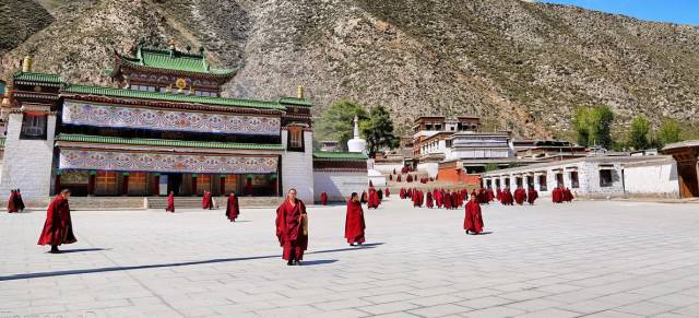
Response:
[{"label": "leftmost, widest tree of the group above the white wall at right", "polygon": [[614,113],[609,106],[578,108],[573,118],[578,144],[601,145],[608,149],[613,144],[611,128],[613,121]]}]

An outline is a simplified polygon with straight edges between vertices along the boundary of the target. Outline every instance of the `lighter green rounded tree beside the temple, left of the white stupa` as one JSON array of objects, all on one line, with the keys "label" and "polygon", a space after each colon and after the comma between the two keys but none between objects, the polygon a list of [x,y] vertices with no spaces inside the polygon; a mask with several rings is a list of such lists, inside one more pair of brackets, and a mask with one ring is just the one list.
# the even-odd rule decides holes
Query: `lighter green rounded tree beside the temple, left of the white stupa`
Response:
[{"label": "lighter green rounded tree beside the temple, left of the white stupa", "polygon": [[352,101],[337,101],[323,111],[316,125],[319,140],[336,140],[343,151],[347,151],[347,141],[353,138],[354,117],[359,121],[367,119],[364,107]]}]

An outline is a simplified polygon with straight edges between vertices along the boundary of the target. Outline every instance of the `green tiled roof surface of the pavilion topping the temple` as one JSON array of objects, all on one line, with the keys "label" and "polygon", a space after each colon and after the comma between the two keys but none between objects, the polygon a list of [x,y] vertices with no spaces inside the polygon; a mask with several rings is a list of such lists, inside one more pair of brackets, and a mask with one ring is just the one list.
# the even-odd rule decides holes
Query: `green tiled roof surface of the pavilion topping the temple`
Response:
[{"label": "green tiled roof surface of the pavilion topping the temple", "polygon": [[146,49],[139,47],[135,58],[122,58],[123,62],[141,67],[167,69],[183,72],[208,74],[233,74],[233,70],[212,69],[203,55],[193,55],[181,51]]}]

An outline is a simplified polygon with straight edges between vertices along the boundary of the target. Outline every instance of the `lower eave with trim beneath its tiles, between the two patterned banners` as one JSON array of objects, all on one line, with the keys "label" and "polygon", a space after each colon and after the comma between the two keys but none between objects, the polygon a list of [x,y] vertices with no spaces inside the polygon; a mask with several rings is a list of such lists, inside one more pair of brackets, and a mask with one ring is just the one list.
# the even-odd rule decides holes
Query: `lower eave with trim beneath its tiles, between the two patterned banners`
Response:
[{"label": "lower eave with trim beneath its tiles, between the two patterned banners", "polygon": [[228,152],[228,151],[271,151],[281,152],[282,144],[236,143],[216,141],[186,141],[168,139],[121,138],[90,134],[61,133],[56,137],[56,145],[72,149],[118,149],[131,151],[159,152]]}]

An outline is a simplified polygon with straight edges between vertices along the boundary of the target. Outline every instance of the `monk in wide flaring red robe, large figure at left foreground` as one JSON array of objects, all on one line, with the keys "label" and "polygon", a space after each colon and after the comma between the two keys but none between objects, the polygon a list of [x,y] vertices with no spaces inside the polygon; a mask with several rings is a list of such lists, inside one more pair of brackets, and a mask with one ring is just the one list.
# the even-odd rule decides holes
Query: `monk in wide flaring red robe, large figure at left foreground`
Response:
[{"label": "monk in wide flaring red robe, large figure at left foreground", "polygon": [[46,210],[46,222],[38,245],[50,245],[50,252],[60,252],[58,247],[62,244],[78,242],[73,234],[73,224],[70,220],[70,205],[68,204],[70,190],[62,190],[56,196]]}]

